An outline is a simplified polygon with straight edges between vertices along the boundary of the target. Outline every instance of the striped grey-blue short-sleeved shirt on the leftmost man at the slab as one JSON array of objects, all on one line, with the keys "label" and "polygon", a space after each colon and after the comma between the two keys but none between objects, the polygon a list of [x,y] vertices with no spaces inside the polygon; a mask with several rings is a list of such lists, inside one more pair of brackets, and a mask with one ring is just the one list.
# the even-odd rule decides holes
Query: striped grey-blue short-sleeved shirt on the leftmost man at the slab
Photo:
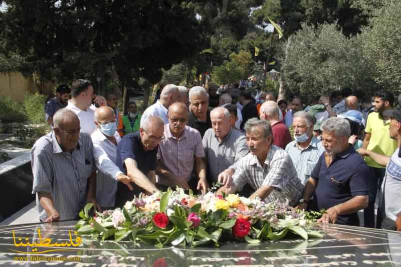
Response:
[{"label": "striped grey-blue short-sleeved shirt on the leftmost man at the slab", "polygon": [[[60,220],[76,219],[86,204],[88,177],[96,170],[91,138],[81,132],[77,148],[63,152],[54,131],[36,141],[31,150],[34,183],[32,194],[46,192],[52,195]],[[36,194],[39,217],[48,214]]]}]

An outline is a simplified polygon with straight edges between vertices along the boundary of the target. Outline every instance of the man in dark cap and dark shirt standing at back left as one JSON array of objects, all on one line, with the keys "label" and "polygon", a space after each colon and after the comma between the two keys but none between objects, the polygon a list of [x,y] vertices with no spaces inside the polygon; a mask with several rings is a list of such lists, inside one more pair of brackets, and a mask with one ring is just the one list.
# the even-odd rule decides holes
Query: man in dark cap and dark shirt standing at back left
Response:
[{"label": "man in dark cap and dark shirt standing at back left", "polygon": [[70,99],[71,89],[66,84],[61,84],[56,89],[56,96],[45,105],[45,118],[49,125],[53,125],[53,115],[57,110],[67,106]]}]

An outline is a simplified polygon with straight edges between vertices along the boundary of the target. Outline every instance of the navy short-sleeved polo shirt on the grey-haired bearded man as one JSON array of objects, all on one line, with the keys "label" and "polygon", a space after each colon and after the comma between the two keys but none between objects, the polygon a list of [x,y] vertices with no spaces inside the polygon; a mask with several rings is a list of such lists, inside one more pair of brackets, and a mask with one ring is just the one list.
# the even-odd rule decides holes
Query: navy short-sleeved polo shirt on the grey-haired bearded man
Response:
[{"label": "navy short-sleeved polo shirt on the grey-haired bearded man", "polygon": [[[329,209],[355,196],[368,195],[369,168],[352,146],[336,155],[329,166],[325,156],[325,153],[320,156],[311,174],[318,182],[314,198],[317,210]],[[358,214],[338,215],[336,223],[359,226]]]}]

